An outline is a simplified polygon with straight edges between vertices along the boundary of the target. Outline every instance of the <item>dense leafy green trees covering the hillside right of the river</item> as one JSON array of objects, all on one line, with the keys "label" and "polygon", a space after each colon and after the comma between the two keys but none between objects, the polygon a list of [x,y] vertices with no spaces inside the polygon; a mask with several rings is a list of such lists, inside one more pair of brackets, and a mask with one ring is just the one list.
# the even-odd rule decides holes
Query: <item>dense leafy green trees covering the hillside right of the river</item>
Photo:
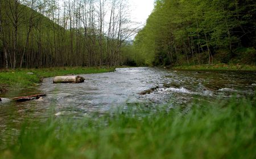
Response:
[{"label": "dense leafy green trees covering the hillside right of the river", "polygon": [[256,1],[157,0],[135,37],[137,65],[256,63]]}]

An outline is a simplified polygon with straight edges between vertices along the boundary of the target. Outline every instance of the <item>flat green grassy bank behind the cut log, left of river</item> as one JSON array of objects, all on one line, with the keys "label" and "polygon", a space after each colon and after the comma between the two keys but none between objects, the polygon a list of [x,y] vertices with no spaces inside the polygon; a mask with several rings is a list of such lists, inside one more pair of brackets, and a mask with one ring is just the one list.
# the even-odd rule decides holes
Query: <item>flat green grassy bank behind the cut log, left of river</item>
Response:
[{"label": "flat green grassy bank behind the cut log, left of river", "polygon": [[[40,69],[0,70],[0,91],[7,88],[27,88],[40,83],[42,78],[68,74],[94,74],[114,71],[114,68],[60,67]],[[33,72],[34,74],[27,74]]]}]

